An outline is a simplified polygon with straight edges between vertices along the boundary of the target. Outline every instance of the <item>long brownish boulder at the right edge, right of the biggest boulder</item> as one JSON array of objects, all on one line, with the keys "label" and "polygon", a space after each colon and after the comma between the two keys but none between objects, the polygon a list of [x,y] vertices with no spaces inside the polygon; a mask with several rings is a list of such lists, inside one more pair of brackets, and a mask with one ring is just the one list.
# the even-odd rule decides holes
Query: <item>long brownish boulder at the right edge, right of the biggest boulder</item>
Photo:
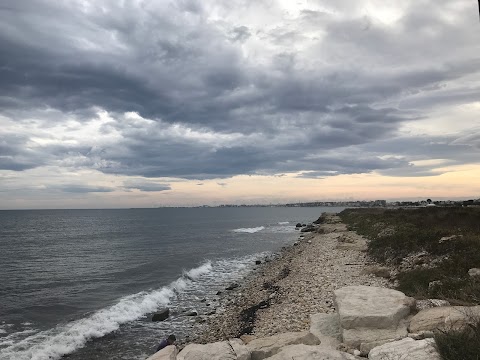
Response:
[{"label": "long brownish boulder at the right edge, right of the biggest boulder", "polygon": [[480,318],[479,306],[442,306],[420,311],[410,320],[412,333],[463,328]]}]

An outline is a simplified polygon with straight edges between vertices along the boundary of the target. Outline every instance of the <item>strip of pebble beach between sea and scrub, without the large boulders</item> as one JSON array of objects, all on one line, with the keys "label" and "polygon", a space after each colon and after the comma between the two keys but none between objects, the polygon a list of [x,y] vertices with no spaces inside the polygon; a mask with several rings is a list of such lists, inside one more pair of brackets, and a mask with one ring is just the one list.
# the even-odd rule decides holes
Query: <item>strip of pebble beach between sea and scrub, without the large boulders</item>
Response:
[{"label": "strip of pebble beach between sea and scrub, without the large boulders", "polygon": [[365,240],[340,218],[323,214],[312,232],[258,265],[239,287],[220,294],[217,314],[189,342],[211,343],[252,335],[265,337],[309,328],[314,313],[335,311],[333,291],[348,285],[391,287],[365,271]]}]

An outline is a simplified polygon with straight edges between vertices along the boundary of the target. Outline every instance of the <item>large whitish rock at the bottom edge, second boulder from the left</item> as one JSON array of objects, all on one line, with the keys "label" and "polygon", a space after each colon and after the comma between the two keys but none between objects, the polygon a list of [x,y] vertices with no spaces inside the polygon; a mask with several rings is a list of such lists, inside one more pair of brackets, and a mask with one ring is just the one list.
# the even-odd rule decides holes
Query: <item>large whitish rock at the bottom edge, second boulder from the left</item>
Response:
[{"label": "large whitish rock at the bottom edge, second boulder from the left", "polygon": [[250,349],[239,339],[210,344],[189,344],[177,355],[177,360],[250,360]]}]

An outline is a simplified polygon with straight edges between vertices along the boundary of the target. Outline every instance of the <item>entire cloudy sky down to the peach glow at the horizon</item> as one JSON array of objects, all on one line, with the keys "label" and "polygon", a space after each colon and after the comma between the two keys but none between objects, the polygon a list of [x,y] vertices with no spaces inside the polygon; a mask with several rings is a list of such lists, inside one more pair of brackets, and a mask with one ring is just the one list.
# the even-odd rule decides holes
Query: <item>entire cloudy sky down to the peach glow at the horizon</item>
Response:
[{"label": "entire cloudy sky down to the peach glow at the horizon", "polygon": [[5,0],[0,209],[480,197],[474,0]]}]

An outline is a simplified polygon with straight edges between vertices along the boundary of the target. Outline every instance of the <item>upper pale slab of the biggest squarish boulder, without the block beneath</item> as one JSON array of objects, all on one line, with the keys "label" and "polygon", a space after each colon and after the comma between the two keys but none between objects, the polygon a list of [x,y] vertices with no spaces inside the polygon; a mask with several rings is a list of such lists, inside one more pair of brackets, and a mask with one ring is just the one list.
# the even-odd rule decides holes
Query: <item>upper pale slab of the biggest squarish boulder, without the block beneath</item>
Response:
[{"label": "upper pale slab of the biggest squarish boulder, without the block beneath", "polygon": [[396,328],[415,303],[400,291],[374,286],[340,288],[334,300],[343,329]]}]

